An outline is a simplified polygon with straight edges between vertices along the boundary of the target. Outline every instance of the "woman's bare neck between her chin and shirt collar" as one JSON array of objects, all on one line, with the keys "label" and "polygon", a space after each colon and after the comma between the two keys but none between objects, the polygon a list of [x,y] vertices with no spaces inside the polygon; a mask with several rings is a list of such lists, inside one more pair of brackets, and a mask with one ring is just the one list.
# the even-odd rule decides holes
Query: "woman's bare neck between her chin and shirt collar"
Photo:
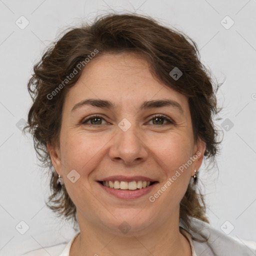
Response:
[{"label": "woman's bare neck between her chin and shirt collar", "polygon": [[[177,215],[177,214],[176,214]],[[187,238],[179,232],[178,215],[172,216],[161,225],[145,227],[139,231],[120,231],[109,229],[88,221],[77,211],[80,234],[73,241],[69,256],[191,256],[191,247]]]}]

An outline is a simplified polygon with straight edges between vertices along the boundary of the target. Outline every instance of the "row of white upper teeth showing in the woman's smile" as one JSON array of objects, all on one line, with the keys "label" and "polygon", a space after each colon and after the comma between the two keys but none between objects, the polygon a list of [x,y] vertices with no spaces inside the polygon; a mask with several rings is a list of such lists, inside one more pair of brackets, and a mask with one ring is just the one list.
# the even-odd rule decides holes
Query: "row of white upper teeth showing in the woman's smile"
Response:
[{"label": "row of white upper teeth showing in the woman's smile", "polygon": [[150,184],[150,181],[119,181],[119,180],[109,180],[109,181],[103,181],[102,182],[104,186],[110,187],[110,188],[115,188],[115,189],[129,189],[129,190],[136,190],[137,188],[145,188],[148,187]]}]

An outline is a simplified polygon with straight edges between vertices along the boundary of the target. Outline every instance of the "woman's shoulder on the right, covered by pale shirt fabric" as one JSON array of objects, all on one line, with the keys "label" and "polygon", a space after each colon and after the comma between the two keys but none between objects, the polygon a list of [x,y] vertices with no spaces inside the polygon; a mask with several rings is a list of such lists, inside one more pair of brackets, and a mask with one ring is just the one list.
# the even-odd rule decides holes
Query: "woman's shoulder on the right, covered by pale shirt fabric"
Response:
[{"label": "woman's shoulder on the right, covered by pale shirt fabric", "polygon": [[191,226],[196,230],[196,232],[189,230],[192,237],[201,240],[203,240],[203,236],[208,238],[206,242],[193,240],[197,255],[255,256],[256,254],[256,241],[234,238],[197,218],[191,218]]}]

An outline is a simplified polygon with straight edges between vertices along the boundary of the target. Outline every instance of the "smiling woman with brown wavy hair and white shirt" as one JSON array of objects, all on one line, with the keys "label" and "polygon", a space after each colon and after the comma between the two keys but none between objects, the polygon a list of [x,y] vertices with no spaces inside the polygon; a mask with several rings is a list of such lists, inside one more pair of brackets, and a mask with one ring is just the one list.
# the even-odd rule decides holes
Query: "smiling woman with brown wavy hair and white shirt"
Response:
[{"label": "smiling woman with brown wavy hair and white shirt", "polygon": [[203,156],[215,161],[219,109],[189,37],[108,14],[54,43],[28,90],[48,206],[80,230],[51,255],[255,254],[205,216],[197,176]]}]

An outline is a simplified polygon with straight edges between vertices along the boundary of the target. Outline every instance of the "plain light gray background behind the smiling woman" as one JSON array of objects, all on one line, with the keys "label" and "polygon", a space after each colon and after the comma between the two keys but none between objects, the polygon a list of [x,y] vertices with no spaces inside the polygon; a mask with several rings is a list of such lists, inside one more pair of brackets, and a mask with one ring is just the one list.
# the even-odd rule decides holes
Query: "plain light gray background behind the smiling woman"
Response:
[{"label": "plain light gray background behind the smiling woman", "polygon": [[[151,15],[187,33],[196,41],[202,62],[218,82],[224,81],[217,94],[223,119],[217,124],[228,118],[233,127],[223,129],[219,176],[217,170],[205,174],[204,166],[200,168],[207,215],[219,230],[228,220],[226,230],[234,226],[228,235],[256,241],[255,0],[0,0],[0,255],[50,246],[74,234],[45,206],[47,176],[37,166],[31,137],[16,126],[26,119],[31,104],[26,83],[33,64],[63,28],[106,11],[125,10]],[[15,23],[21,15],[29,21],[24,29]],[[226,15],[234,21],[229,29],[221,24]],[[222,22],[231,24],[230,19]],[[15,229],[21,220],[29,226],[23,235]]]}]

